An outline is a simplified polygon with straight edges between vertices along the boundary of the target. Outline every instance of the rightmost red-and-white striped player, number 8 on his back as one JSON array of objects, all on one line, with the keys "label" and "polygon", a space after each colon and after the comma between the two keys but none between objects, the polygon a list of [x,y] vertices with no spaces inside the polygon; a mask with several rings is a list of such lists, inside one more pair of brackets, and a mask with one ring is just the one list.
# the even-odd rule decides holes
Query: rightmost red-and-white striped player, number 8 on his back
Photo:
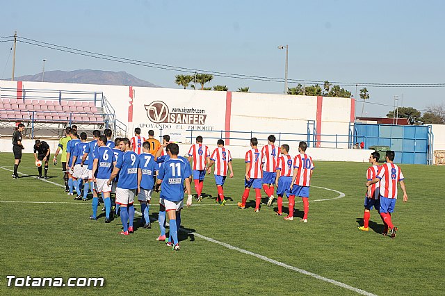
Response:
[{"label": "rightmost red-and-white striped player, number 8 on his back", "polygon": [[[403,202],[407,202],[408,200],[402,170],[398,165],[393,163],[395,156],[394,151],[387,151],[387,163],[380,167],[377,177],[372,181],[366,182],[366,186],[369,187],[380,181],[380,216],[382,216],[383,222],[391,229],[391,238],[396,237],[397,231],[397,227],[394,226],[391,221],[391,213],[394,211],[397,200],[397,182],[401,184]],[[383,234],[385,235],[385,233]]]}]

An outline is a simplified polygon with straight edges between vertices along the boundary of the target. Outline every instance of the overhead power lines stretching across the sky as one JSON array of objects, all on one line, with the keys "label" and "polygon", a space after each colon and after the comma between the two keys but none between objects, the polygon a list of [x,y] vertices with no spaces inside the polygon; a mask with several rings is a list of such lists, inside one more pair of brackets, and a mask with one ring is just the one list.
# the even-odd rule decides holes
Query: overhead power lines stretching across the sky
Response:
[{"label": "overhead power lines stretching across the sky", "polygon": [[[13,36],[6,36],[1,38],[10,38]],[[49,42],[42,42],[39,40],[33,40],[31,38],[24,38],[17,36],[17,41],[23,42],[26,44],[31,44],[37,47],[46,47],[48,49],[53,49],[57,51],[64,51],[70,54],[77,54],[80,56],[88,56],[91,58],[98,58],[102,60],[111,60],[118,63],[127,63],[129,65],[139,65],[144,67],[153,67],[156,69],[164,69],[169,71],[183,71],[189,73],[209,73],[214,76],[227,77],[232,79],[245,79],[245,80],[255,80],[255,81],[268,81],[268,82],[277,82],[282,83],[284,79],[277,77],[268,77],[268,76],[254,76],[247,74],[236,74],[236,73],[228,73],[228,72],[216,72],[216,71],[207,71],[203,69],[194,69],[188,67],[179,67],[173,65],[165,65],[160,63],[152,63],[143,60],[134,60],[131,58],[122,58],[118,56],[111,56],[106,54],[99,54],[93,51],[84,51],[82,49],[74,49],[72,47],[64,47],[58,44],[52,44]],[[2,41],[0,41],[2,42]],[[288,79],[291,83],[316,83],[323,84],[324,81],[316,81],[316,80],[304,80],[304,79]],[[337,85],[343,86],[360,86],[360,87],[378,87],[378,88],[395,88],[395,87],[403,87],[403,88],[443,88],[445,87],[445,83],[357,83],[357,82],[343,82],[343,81],[330,81],[330,83],[335,83]]]}]

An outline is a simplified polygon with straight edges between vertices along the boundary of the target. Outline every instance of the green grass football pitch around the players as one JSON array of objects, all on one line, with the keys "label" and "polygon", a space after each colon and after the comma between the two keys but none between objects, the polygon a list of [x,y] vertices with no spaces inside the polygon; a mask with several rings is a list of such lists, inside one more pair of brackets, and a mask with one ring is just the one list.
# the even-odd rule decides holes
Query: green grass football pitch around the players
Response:
[{"label": "green grass football pitch around the players", "polygon": [[[399,231],[393,240],[380,235],[382,222],[375,211],[370,231],[357,230],[368,164],[316,162],[309,200],[328,200],[311,202],[306,224],[277,217],[275,203],[262,205],[259,213],[252,205],[238,209],[244,163],[235,160],[234,179],[227,179],[225,186],[227,205],[218,206],[214,197],[207,197],[184,209],[182,226],[197,234],[181,233],[181,251],[172,252],[155,240],[157,222],[152,229],[120,236],[120,219],[111,224],[105,224],[104,217],[89,220],[91,202],[74,201],[56,186],[63,184],[59,166],[49,167],[53,183],[34,179],[33,156],[24,154],[19,172],[31,176],[12,179],[8,171],[13,169],[12,159],[12,154],[0,154],[0,295],[357,294],[326,279],[376,295],[445,295],[445,167],[401,165],[409,200],[397,202],[393,221]],[[339,192],[323,188],[343,192],[345,197],[334,199]],[[213,176],[204,181],[204,192],[216,196]],[[152,220],[159,211],[158,197],[154,195],[150,208]],[[254,202],[254,192],[250,201]],[[296,208],[296,215],[302,215],[300,199]],[[136,210],[140,211],[139,205]],[[104,277],[106,284],[7,288],[9,274],[65,280]]]}]

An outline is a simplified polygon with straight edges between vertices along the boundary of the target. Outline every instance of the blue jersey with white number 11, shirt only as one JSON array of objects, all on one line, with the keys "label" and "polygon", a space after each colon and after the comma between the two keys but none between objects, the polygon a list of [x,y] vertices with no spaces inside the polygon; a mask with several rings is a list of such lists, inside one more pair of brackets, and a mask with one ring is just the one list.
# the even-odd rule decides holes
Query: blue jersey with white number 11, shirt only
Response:
[{"label": "blue jersey with white number 11, shirt only", "polygon": [[180,158],[170,158],[159,169],[158,180],[162,180],[161,197],[172,202],[184,199],[184,180],[188,178],[188,168]]}]

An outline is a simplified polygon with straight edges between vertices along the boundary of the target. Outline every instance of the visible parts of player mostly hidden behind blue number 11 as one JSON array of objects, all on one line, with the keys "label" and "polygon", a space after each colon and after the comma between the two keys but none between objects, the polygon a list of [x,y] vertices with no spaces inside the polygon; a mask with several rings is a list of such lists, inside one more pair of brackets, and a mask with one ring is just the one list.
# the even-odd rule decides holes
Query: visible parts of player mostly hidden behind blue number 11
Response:
[{"label": "visible parts of player mostly hidden behind blue number 11", "polygon": [[[158,151],[156,151],[156,154],[154,154],[154,159],[156,160],[156,163],[159,163],[159,167],[162,167],[163,163],[165,161],[168,161],[168,159],[170,159],[170,142],[168,142],[168,139],[170,139],[169,135],[163,135],[163,142],[161,147],[158,149]],[[165,154],[163,156],[161,156],[161,154],[163,154],[165,148]],[[190,183],[192,181],[192,168],[190,163],[187,161],[186,158],[184,158],[183,156],[178,156],[178,158],[182,159],[184,162],[186,162],[187,164],[187,176],[188,179],[190,180]],[[163,204],[163,199],[159,198],[159,216],[158,216],[158,221],[159,221],[159,229],[161,231],[161,234],[159,235],[158,238],[156,238],[156,240],[166,240],[166,236],[165,236],[165,206]],[[181,213],[179,212],[177,217],[176,217],[176,221],[177,223],[179,223],[179,225],[181,225]],[[169,239],[168,241],[171,241],[171,239]]]}]

